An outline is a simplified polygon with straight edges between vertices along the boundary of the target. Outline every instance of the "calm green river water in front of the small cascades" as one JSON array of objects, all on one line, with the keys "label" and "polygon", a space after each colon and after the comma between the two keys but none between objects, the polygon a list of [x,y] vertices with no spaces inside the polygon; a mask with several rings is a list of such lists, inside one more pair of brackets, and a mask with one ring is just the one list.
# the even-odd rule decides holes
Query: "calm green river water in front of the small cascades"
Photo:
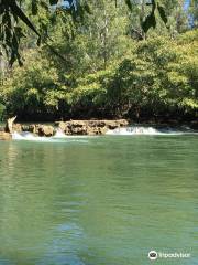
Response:
[{"label": "calm green river water in front of the small cascades", "polygon": [[29,264],[198,264],[198,136],[1,141],[0,265]]}]

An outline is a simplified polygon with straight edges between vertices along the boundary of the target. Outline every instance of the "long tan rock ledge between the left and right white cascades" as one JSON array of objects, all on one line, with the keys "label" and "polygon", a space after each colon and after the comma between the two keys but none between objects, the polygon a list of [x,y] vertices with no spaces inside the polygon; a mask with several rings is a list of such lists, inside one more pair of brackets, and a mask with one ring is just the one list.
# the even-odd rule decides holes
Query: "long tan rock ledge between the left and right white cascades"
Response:
[{"label": "long tan rock ledge between the left and right white cascades", "polygon": [[66,135],[105,135],[109,129],[128,126],[125,119],[118,120],[69,120],[59,121],[58,127]]}]

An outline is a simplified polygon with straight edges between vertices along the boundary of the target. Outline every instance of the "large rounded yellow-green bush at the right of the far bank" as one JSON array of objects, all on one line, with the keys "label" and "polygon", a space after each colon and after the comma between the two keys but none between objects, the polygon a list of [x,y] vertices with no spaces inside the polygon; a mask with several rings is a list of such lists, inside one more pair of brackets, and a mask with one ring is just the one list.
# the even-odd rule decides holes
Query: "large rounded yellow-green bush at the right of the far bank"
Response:
[{"label": "large rounded yellow-green bush at the right of the far bank", "polygon": [[[191,42],[191,40],[194,40]],[[198,109],[198,32],[151,39],[138,44],[120,64],[109,89],[109,104],[121,116]]]}]

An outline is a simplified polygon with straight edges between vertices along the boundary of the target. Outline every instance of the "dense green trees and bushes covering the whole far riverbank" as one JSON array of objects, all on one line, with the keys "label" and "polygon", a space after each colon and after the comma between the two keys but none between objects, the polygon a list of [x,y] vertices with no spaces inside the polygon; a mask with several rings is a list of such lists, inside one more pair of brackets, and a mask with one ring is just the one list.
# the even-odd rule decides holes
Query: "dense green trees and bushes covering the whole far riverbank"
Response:
[{"label": "dense green trees and bushes covering the whole far riverbank", "polygon": [[80,20],[45,6],[34,7],[38,15],[32,15],[31,4],[24,7],[43,41],[37,46],[19,22],[26,38],[16,57],[24,62],[10,68],[1,56],[0,115],[6,108],[25,120],[197,117],[195,0],[188,10],[182,0],[158,1],[155,19],[144,1],[130,1],[129,9],[124,1],[91,0]]}]

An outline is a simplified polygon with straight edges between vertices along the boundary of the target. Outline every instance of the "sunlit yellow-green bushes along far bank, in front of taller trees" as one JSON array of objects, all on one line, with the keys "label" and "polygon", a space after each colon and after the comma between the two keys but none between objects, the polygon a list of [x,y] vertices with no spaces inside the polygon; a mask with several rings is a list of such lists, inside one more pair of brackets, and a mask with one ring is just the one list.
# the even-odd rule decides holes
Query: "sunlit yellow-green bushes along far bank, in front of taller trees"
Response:
[{"label": "sunlit yellow-green bushes along far bank, in front of taller trees", "polygon": [[14,66],[0,95],[10,112],[28,115],[57,112],[69,115],[102,112],[113,117],[133,117],[141,112],[152,117],[174,112],[196,115],[197,45],[197,31],[178,40],[148,38],[135,42],[128,54],[114,59],[107,70],[91,71],[85,68],[87,50],[85,39],[80,39],[75,47],[61,49],[72,62],[64,73],[64,64],[55,65],[51,56],[29,50],[28,63],[22,68]]}]

